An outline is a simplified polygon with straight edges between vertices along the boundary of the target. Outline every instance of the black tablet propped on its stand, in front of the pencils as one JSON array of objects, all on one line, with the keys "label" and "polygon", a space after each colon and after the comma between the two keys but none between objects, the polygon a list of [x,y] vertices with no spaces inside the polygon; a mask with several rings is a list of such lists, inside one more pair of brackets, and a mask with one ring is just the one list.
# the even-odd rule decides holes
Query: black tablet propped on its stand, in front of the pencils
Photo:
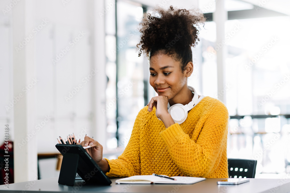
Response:
[{"label": "black tablet propped on its stand, in front of the pencils", "polygon": [[[60,184],[73,185],[76,172],[90,184],[110,185],[112,183],[81,145],[56,144],[55,147],[64,156],[59,174]],[[65,182],[69,180],[69,183]]]}]

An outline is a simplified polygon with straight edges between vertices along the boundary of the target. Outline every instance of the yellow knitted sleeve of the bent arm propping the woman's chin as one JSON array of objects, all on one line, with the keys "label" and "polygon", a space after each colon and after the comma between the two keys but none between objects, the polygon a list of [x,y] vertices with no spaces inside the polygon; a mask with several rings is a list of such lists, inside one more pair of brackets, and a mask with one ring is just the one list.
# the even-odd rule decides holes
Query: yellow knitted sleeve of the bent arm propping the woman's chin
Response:
[{"label": "yellow knitted sleeve of the bent arm propping the woman's chin", "polygon": [[[226,148],[228,110],[218,103],[199,120],[203,122],[197,139],[191,139],[178,123],[160,132],[171,158],[186,176],[206,177],[215,170]],[[193,137],[192,137],[193,138]]]}]

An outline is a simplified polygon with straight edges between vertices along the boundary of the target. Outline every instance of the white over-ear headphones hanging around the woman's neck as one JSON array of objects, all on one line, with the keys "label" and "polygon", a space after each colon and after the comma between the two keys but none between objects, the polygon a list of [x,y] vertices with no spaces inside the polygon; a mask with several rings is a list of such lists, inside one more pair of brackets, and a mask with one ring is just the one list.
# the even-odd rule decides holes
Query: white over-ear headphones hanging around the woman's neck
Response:
[{"label": "white over-ear headphones hanging around the woman's neck", "polygon": [[[197,101],[198,101],[198,94],[196,90],[191,86],[188,86],[188,87],[191,90],[191,92],[194,93],[194,95],[193,95],[192,100],[187,105],[177,103],[175,105],[170,106],[169,102],[167,105],[168,113],[171,115],[174,122],[178,124],[181,124],[185,121],[185,119],[187,118],[187,111],[191,110],[193,106],[197,104]],[[161,121],[161,119],[159,120]]]}]

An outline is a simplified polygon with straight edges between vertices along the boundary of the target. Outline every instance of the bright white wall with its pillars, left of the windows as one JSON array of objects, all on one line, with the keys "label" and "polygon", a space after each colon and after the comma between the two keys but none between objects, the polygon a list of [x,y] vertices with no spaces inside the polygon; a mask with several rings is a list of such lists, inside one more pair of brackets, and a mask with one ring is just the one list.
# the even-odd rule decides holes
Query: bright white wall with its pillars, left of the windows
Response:
[{"label": "bright white wall with its pillars, left of the windows", "polygon": [[0,127],[8,124],[14,141],[15,182],[35,180],[37,152],[58,152],[58,136],[87,134],[105,146],[104,2],[64,2],[0,2]]}]

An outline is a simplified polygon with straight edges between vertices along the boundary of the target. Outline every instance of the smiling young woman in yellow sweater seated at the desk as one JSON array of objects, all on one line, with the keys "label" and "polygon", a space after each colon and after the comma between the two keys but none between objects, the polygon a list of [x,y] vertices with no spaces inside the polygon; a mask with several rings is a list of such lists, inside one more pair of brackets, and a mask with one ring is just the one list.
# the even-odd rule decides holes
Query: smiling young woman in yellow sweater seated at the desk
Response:
[{"label": "smiling young woman in yellow sweater seated at the desk", "polygon": [[150,85],[158,96],[138,113],[118,159],[103,158],[102,145],[88,136],[81,145],[93,146],[86,150],[109,177],[156,173],[228,178],[227,108],[187,85],[193,72],[191,46],[199,41],[197,24],[205,22],[204,15],[171,6],[144,16],[137,47],[139,56],[143,51],[150,59]]}]

